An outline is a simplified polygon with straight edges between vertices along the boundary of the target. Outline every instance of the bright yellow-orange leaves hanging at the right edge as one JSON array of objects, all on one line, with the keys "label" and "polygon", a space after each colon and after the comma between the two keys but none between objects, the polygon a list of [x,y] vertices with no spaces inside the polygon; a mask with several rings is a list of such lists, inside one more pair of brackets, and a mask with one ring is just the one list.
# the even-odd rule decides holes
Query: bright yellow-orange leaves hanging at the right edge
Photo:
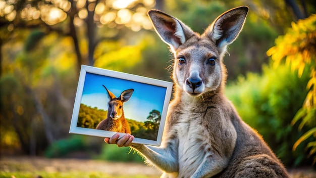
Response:
[{"label": "bright yellow-orange leaves hanging at the right edge", "polygon": [[[297,70],[298,76],[303,74],[304,69],[309,66],[309,81],[306,85],[308,91],[304,105],[297,112],[292,120],[294,125],[299,119],[299,129],[304,125],[313,126],[308,130],[293,146],[293,150],[297,148],[308,137],[316,140],[316,14],[311,15],[307,19],[292,23],[292,28],[288,29],[286,34],[276,39],[276,45],[272,47],[267,54],[272,57],[274,67],[277,68],[283,60],[286,65],[291,66],[292,71]],[[316,163],[316,144],[310,142],[307,149],[309,156],[314,155],[314,163]]]}]

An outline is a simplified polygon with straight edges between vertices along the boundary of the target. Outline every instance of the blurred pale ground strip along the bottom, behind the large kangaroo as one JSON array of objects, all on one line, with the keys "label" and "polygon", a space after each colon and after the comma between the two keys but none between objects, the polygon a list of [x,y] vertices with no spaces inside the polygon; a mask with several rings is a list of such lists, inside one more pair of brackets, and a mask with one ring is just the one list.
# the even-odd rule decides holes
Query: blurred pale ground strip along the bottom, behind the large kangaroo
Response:
[{"label": "blurred pale ground strip along the bottom, behind the large kangaroo", "polygon": [[[68,172],[66,175],[65,172]],[[289,170],[293,178],[314,178],[316,170]],[[20,176],[21,174],[29,176]],[[76,174],[78,173],[78,174]],[[44,174],[44,175],[43,175]],[[43,157],[0,158],[0,177],[160,177],[161,172],[142,163],[89,159],[48,159]]]}]

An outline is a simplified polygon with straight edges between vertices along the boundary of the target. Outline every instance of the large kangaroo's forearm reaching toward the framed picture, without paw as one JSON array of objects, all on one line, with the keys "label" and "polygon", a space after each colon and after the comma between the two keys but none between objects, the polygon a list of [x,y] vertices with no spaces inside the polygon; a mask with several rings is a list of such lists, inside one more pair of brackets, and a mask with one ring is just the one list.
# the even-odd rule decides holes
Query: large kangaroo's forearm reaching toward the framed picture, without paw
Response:
[{"label": "large kangaroo's forearm reaching toward the framed picture, without paw", "polygon": [[132,144],[131,147],[144,156],[149,164],[153,164],[165,172],[179,171],[176,144],[169,142],[165,147]]}]

